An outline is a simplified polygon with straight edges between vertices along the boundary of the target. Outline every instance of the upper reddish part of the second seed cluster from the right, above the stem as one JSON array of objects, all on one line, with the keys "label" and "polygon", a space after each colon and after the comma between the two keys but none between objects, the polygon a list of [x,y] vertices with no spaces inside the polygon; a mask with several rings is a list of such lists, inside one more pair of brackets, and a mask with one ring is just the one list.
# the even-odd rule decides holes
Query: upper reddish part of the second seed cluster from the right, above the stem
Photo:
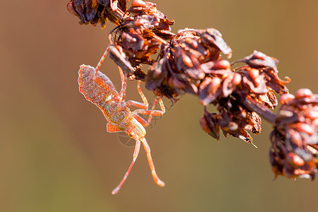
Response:
[{"label": "upper reddish part of the second seed cluster from the right, above the stem", "polygon": [[208,76],[199,86],[199,100],[203,105],[216,104],[221,98],[229,95],[245,94],[269,108],[277,106],[275,91],[278,94],[287,93],[285,84],[290,81],[281,80],[277,70],[270,67],[252,68],[241,66],[233,71],[225,60],[203,64]]}]

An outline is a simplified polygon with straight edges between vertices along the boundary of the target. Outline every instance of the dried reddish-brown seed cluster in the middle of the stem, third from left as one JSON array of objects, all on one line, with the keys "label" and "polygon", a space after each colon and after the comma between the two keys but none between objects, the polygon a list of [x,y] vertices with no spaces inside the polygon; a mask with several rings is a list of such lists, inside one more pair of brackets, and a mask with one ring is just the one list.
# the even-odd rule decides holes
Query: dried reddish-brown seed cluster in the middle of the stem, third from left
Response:
[{"label": "dried reddish-brown seed cluster in the middle of the stem, third from left", "polygon": [[[230,63],[223,61],[219,63],[220,53],[230,57],[231,49],[224,42],[218,30],[179,30],[177,35],[172,37],[170,45],[166,45],[160,52],[160,60],[155,66],[157,72],[162,73],[164,79],[152,78],[152,74],[146,78],[146,87],[153,88],[174,88],[176,93],[199,94],[200,83],[208,76],[208,69],[211,66],[225,66],[228,69]],[[215,61],[215,62],[214,62]],[[216,64],[215,64],[216,63]],[[149,72],[148,72],[149,73]],[[156,81],[156,83],[152,83]]]}]

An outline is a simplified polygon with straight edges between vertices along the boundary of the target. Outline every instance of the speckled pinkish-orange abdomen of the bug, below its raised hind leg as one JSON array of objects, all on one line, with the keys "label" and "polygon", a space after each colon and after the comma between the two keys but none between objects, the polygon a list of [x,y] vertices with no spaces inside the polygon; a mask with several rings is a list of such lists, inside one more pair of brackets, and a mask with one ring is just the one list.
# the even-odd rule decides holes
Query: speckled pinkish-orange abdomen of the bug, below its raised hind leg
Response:
[{"label": "speckled pinkish-orange abdomen of the bug, below its raised hind leg", "polygon": [[116,88],[104,73],[98,71],[97,77],[101,78],[105,85],[113,90],[111,93],[109,90],[105,90],[93,81],[93,74],[95,73],[95,68],[92,66],[81,65],[78,71],[78,85],[80,92],[85,96],[87,100],[93,102],[93,104],[100,107],[105,107],[106,102],[112,98],[113,94],[118,94]]}]

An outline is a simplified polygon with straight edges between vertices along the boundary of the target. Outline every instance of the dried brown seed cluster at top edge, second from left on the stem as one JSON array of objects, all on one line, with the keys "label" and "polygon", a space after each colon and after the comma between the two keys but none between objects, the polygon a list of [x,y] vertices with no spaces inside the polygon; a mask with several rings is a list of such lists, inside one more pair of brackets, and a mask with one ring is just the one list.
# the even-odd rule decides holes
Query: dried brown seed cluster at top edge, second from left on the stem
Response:
[{"label": "dried brown seed cluster at top edge, second from left on the stem", "polygon": [[155,4],[133,1],[123,21],[111,32],[112,42],[119,52],[124,52],[131,66],[153,64],[155,54],[165,39],[171,37],[170,25],[174,22],[157,10]]}]

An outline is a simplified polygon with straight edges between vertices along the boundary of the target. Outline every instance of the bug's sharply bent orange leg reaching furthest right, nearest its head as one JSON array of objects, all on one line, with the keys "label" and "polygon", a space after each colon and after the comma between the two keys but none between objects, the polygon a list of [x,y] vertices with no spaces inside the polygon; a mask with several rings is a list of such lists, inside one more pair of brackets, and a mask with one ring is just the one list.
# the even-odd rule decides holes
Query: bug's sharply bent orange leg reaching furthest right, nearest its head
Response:
[{"label": "bug's sharply bent orange leg reaching furthest right, nearest its head", "polygon": [[[157,105],[157,102],[159,101],[161,110],[155,110],[155,105]],[[143,126],[148,126],[151,123],[151,118],[153,116],[162,116],[165,113],[165,105],[163,105],[163,100],[161,98],[156,98],[155,101],[153,101],[153,107],[151,110],[134,110],[133,116],[137,121],[142,124]],[[137,114],[146,114],[148,115],[148,120],[139,117]]]}]

